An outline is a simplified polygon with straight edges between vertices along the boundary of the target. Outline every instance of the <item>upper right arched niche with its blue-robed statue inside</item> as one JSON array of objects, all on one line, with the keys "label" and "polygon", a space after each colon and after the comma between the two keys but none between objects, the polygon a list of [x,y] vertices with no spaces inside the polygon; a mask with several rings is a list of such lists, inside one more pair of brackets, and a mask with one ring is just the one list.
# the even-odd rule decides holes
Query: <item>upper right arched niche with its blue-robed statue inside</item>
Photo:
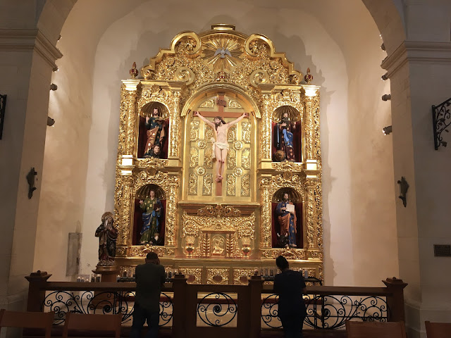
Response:
[{"label": "upper right arched niche with its blue-robed statue inside", "polygon": [[293,106],[280,106],[271,121],[273,162],[302,162],[302,116]]}]

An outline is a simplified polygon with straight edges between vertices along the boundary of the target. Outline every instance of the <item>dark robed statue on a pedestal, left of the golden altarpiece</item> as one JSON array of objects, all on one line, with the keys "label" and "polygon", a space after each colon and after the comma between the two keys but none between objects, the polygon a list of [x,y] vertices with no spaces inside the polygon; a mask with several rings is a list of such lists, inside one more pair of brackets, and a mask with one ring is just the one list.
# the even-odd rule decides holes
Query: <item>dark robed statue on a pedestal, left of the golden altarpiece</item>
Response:
[{"label": "dark robed statue on a pedestal, left of the golden altarpiece", "polygon": [[101,216],[101,225],[97,227],[95,235],[99,237],[99,263],[97,265],[114,265],[118,230],[113,226],[112,213],[106,212]]}]

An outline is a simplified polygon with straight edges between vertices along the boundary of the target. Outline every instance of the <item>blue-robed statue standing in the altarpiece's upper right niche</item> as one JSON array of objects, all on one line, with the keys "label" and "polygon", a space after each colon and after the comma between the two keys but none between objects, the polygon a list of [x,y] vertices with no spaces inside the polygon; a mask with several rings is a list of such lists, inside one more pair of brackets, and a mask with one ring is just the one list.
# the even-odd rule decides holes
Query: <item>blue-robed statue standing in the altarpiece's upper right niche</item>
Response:
[{"label": "blue-robed statue standing in the altarpiece's upper right niche", "polygon": [[284,112],[276,125],[276,154],[274,154],[276,161],[296,161],[293,144],[294,134],[292,132],[295,129],[296,124],[291,123],[288,113]]}]

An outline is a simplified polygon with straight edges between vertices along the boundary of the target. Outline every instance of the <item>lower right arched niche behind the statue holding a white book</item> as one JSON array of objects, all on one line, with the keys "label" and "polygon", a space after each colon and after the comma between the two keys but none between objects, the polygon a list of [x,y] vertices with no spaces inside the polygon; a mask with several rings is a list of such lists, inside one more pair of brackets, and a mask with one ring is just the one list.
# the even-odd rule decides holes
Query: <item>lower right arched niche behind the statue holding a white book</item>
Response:
[{"label": "lower right arched niche behind the statue holding a white book", "polygon": [[[282,214],[280,207],[283,207],[283,196],[288,194],[289,200],[295,206],[295,217],[292,219],[295,229],[295,243],[293,246],[295,249],[302,249],[304,247],[304,231],[303,231],[303,201],[302,196],[295,189],[290,187],[283,187],[278,189],[272,196],[271,199],[271,235],[272,235],[272,247],[280,248],[285,247],[285,241],[283,240],[283,225],[286,222],[286,214]],[[285,219],[280,219],[279,217],[285,216]],[[289,222],[290,223],[290,220]],[[289,225],[289,224],[288,224]],[[287,243],[288,244],[288,243]]]}]

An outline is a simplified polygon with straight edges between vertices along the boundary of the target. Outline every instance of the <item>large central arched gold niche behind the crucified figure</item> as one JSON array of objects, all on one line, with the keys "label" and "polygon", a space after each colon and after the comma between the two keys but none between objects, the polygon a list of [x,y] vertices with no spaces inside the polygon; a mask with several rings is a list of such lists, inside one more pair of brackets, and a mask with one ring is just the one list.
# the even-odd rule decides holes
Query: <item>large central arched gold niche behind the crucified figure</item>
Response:
[{"label": "large central arched gold niche behind the crucified figure", "polygon": [[[257,112],[256,105],[249,96],[243,96],[232,84],[208,84],[194,94],[185,104],[185,139],[183,175],[187,186],[183,190],[184,199],[199,201],[211,199],[220,201],[242,201],[257,199]],[[222,105],[225,106],[222,106]],[[221,116],[226,123],[249,113],[228,129],[227,141],[230,145],[223,170],[222,184],[218,184],[217,161],[214,158],[214,129],[204,123],[192,111],[199,111],[204,118],[213,121]],[[183,115],[183,113],[182,113]]]}]

